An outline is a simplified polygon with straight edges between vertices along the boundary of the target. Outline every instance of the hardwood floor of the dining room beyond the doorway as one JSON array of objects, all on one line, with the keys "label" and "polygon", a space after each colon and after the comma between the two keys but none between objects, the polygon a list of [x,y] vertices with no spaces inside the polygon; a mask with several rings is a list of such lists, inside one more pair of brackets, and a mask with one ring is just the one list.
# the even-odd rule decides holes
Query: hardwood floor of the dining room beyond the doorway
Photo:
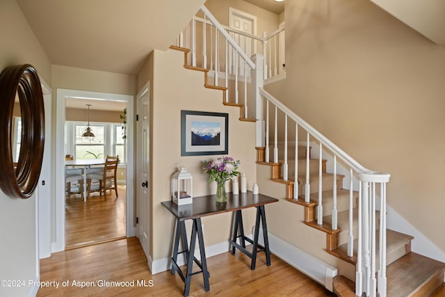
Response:
[{"label": "hardwood floor of the dining room beyond the doorway", "polygon": [[[80,196],[65,203],[65,248],[122,239],[126,236],[126,186],[118,185],[119,198],[115,191],[104,199],[92,193],[84,202]],[[110,193],[108,191],[108,193]]]}]

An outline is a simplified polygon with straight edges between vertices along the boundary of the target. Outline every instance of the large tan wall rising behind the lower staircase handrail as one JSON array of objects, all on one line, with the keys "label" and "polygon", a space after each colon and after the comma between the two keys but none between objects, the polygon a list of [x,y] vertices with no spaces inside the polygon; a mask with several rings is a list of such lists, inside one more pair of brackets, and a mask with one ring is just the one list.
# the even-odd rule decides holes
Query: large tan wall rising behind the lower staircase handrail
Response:
[{"label": "large tan wall rising behind the lower staircase handrail", "polygon": [[268,90],[390,172],[388,204],[442,250],[444,81],[445,48],[373,3],[286,0],[286,80]]}]

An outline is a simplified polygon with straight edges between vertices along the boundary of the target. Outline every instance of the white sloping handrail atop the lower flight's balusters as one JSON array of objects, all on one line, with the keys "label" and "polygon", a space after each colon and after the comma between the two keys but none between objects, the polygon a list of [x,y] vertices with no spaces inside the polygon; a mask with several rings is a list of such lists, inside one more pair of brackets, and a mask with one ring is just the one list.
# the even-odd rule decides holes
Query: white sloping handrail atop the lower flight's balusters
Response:
[{"label": "white sloping handrail atop the lower flight's balusters", "polygon": [[[275,106],[277,106],[281,111],[289,115],[289,118],[298,122],[298,125],[309,132],[316,140],[323,143],[324,147],[327,147],[328,150],[337,155],[343,162],[345,162],[350,168],[353,168],[355,172],[358,172],[360,176],[365,179],[367,182],[389,182],[389,173],[382,173],[370,170],[365,168],[360,163],[355,161],[351,156],[343,152],[337,145],[332,143],[329,139],[327,139],[323,134],[321,134],[318,130],[314,129],[311,125],[309,125],[305,120],[300,118],[296,113],[288,109],[284,104],[278,101],[273,95],[270,95],[263,88],[259,89],[259,93],[266,97],[268,101],[272,102]],[[360,179],[362,179],[360,178]]]}]

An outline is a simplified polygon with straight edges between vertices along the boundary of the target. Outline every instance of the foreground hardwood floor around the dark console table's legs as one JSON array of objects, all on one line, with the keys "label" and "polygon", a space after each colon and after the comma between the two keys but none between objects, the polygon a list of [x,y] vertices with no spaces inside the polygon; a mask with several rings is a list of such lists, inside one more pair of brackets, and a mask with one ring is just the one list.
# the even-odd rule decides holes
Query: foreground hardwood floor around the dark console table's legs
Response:
[{"label": "foreground hardwood floor around the dark console table's legs", "polygon": [[[209,257],[210,291],[204,291],[202,274],[197,274],[190,296],[334,296],[275,255],[271,259],[268,267],[264,254],[259,253],[257,268],[251,271],[250,259],[241,252]],[[182,296],[184,290],[179,275],[150,273],[136,237],[65,250],[42,259],[40,280],[59,282],[59,287],[41,287],[37,296]],[[76,287],[81,282],[98,285]],[[127,287],[110,287],[104,282],[128,283]]]}]

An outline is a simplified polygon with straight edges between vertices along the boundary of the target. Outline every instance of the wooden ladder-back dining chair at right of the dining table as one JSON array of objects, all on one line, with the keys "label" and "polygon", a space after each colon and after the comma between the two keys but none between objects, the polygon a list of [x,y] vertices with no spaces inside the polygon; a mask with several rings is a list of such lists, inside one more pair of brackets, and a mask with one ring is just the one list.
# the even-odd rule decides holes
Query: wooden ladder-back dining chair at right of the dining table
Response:
[{"label": "wooden ladder-back dining chair at right of the dining table", "polygon": [[[119,197],[117,179],[118,163],[118,156],[107,156],[102,172],[92,172],[88,174],[88,195],[92,192],[99,191],[99,195],[102,196],[102,193],[104,193],[106,197],[106,191],[114,189],[116,198]],[[97,187],[97,180],[99,181],[99,187]]]}]

